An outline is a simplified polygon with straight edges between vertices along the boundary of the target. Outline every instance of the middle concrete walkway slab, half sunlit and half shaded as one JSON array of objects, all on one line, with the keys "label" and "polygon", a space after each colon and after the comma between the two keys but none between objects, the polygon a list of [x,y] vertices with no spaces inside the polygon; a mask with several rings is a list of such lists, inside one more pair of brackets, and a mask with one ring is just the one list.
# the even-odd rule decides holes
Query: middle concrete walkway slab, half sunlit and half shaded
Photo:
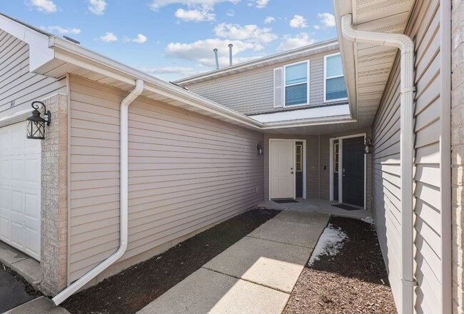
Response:
[{"label": "middle concrete walkway slab, half sunlit and half shaded", "polygon": [[203,268],[291,293],[311,249],[245,237]]}]

